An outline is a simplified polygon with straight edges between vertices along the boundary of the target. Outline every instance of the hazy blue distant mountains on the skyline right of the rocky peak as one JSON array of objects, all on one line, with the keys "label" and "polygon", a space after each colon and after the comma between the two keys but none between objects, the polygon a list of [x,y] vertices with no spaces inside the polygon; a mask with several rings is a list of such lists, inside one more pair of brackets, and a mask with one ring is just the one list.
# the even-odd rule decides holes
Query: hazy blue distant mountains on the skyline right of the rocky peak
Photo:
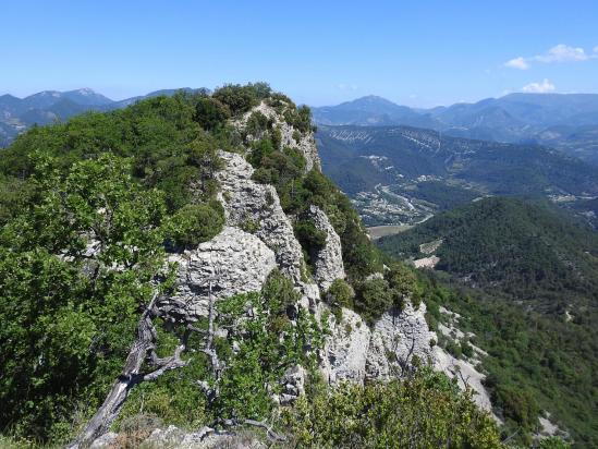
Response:
[{"label": "hazy blue distant mountains on the skyline right of the rocky peak", "polygon": [[320,125],[427,128],[455,137],[548,145],[598,165],[597,94],[511,94],[432,109],[368,96],[312,110]]}]

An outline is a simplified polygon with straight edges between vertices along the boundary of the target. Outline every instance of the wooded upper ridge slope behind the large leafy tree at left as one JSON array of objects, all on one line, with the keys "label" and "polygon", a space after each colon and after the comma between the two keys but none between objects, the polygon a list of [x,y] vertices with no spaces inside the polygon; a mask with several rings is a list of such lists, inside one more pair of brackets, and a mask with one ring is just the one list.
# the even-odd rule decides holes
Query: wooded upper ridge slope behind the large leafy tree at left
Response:
[{"label": "wooded upper ridge slope behind the large leafy tree at left", "polygon": [[[170,210],[175,210],[192,196],[213,195],[213,172],[221,163],[217,148],[231,145],[225,132],[208,134],[195,121],[197,104],[206,100],[203,96],[157,97],[123,110],[34,128],[3,150],[0,171],[12,179],[28,178],[32,155],[38,149],[51,155],[62,171],[81,159],[111,153],[132,158],[135,178],[147,187],[162,190]],[[10,185],[14,190],[19,184],[11,180]]]}]

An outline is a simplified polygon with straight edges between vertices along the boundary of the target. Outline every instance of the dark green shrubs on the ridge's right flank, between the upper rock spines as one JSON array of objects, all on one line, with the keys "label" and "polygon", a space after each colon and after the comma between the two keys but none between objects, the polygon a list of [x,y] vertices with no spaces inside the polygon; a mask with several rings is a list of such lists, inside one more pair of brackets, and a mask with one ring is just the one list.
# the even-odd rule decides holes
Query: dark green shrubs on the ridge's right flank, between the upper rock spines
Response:
[{"label": "dark green shrubs on the ridge's right flank, between the upper rock spines", "polygon": [[[309,109],[296,109],[288,99],[277,99],[279,107],[284,106],[284,117],[302,132],[309,131]],[[341,238],[343,260],[350,282],[357,283],[368,275],[381,270],[381,257],[371,245],[359,216],[350,199],[318,169],[305,172],[306,162],[295,148],[280,148],[278,130],[261,114],[252,114],[251,135],[261,138],[251,143],[248,161],[256,169],[253,179],[276,186],[280,203],[285,213],[300,217],[294,223],[295,233],[303,245],[306,262],[324,243],[325,235],[312,222],[303,220],[310,205],[318,206],[330,218],[334,230]]]}]

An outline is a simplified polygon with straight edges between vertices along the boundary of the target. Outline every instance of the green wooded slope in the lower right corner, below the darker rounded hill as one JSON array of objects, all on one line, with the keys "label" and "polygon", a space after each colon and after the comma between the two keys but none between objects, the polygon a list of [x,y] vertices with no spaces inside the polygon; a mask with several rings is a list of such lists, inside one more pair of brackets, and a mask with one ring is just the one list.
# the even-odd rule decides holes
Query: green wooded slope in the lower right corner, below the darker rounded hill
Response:
[{"label": "green wooded slope in the lower right corner, below the darker rounded hill", "polygon": [[[483,366],[485,386],[491,392],[496,413],[505,421],[503,436],[530,445],[540,410],[566,429],[575,447],[594,447],[598,348],[591,323],[565,321],[516,305],[498,292],[447,287],[438,275],[419,278],[428,316],[442,320],[440,305],[462,316],[459,328],[475,333],[475,343],[488,352]],[[588,317],[589,318],[589,317]],[[465,344],[449,345],[463,352]]]}]

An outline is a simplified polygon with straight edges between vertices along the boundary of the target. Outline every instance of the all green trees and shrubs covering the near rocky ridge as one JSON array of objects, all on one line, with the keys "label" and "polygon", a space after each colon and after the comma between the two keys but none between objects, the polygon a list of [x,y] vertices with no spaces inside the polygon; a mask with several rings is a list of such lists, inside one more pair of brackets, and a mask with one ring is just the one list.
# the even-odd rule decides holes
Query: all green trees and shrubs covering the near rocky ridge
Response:
[{"label": "all green trees and shrubs covering the near rocky ridge", "polygon": [[[229,118],[239,120],[260,100],[295,126],[295,141],[312,130],[309,110],[267,85],[228,85],[212,96],[180,93],[36,128],[2,154],[0,432],[11,438],[0,436],[0,445],[71,440],[123,373],[143,317],[151,321],[155,353],[139,359],[142,372],[155,369],[155,359],[167,359],[183,341],[185,363],[154,381],[131,384],[114,423],[131,436],[123,447],[139,444],[159,423],[196,429],[223,418],[273,422],[294,438],[291,447],[499,446],[495,424],[469,393],[424,367],[404,381],[326,389],[316,369],[326,328],[297,307],[293,282],[278,271],[261,291],[217,302],[213,319],[200,318],[193,328],[154,314],[154,299],[173,289],[175,267],[167,264],[167,251],[195,246],[221,230],[218,149],[241,151],[242,143],[252,147],[256,180],[272,183],[284,210],[296,217],[307,258],[325,238],[305,219],[309,206],[325,210],[341,236],[349,277],[325,294],[333,312],[351,306],[373,323],[410,296],[415,305],[426,299],[438,320],[442,301],[465,301],[436,298],[432,280],[418,280],[405,265],[385,258],[351,202],[319,170],[306,171],[301,153],[282,146],[272,122],[248,117],[251,135],[230,124]],[[244,228],[255,231],[257,223]],[[210,327],[218,331],[206,349]],[[507,337],[496,341],[512,343]],[[282,378],[296,365],[307,371],[306,397],[281,410],[272,395],[284,391]],[[562,369],[569,380],[587,384],[587,374]],[[511,372],[491,373],[503,414],[530,428],[542,400],[536,404],[522,393]],[[534,386],[530,380],[526,388]]]}]

